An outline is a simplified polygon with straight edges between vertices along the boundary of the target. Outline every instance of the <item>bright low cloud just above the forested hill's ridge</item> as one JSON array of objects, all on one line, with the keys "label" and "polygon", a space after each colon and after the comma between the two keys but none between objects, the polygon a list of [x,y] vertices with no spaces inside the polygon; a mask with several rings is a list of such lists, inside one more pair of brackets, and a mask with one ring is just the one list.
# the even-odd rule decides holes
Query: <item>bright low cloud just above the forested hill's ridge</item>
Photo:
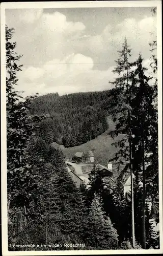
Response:
[{"label": "bright low cloud just above the forested hill's ridge", "polygon": [[112,72],[114,67],[100,71],[94,70],[93,66],[92,58],[73,54],[63,60],[48,61],[39,68],[24,67],[18,76],[19,84],[23,84],[23,96],[37,92],[40,95],[49,92],[58,92],[62,95],[110,89],[112,86],[109,80],[115,77]]}]

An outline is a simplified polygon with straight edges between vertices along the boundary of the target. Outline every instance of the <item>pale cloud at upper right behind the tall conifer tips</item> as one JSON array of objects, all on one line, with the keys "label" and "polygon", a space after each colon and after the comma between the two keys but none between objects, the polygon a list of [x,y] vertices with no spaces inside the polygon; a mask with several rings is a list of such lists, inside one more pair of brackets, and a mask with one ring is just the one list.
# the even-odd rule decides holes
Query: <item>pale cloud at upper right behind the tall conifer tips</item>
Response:
[{"label": "pale cloud at upper right behind the tall conifer tips", "polygon": [[82,53],[86,51],[97,63],[113,65],[113,60],[118,57],[117,50],[122,49],[125,37],[135,59],[140,52],[145,58],[149,57],[149,43],[155,35],[155,17],[145,17],[141,20],[126,18],[119,24],[108,24],[98,35],[79,38],[77,49]]}]

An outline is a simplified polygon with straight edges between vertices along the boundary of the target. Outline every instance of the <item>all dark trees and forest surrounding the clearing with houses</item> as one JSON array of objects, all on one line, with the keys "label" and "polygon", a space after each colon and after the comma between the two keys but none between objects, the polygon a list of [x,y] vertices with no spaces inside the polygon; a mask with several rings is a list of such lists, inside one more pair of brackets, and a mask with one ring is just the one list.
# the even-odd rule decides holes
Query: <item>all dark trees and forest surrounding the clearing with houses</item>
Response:
[{"label": "all dark trees and forest surrounding the clearing with houses", "polygon": [[[21,99],[15,91],[16,73],[21,71],[12,42],[14,30],[6,27],[7,91],[7,180],[8,242],[38,244],[31,250],[132,249],[131,205],[121,189],[123,173],[129,168],[128,128],[132,132],[134,180],[134,249],[142,245],[142,162],[146,162],[146,198],[158,197],[157,79],[152,80],[140,55],[130,62],[131,49],[125,39],[117,67],[114,89]],[[155,42],[151,48],[155,47]],[[151,66],[157,71],[156,56]],[[130,116],[129,116],[130,114]],[[115,182],[103,177],[94,166],[90,186],[76,187],[67,172],[65,156],[51,142],[66,147],[83,144],[106,131],[106,117],[116,124],[113,137],[120,148],[114,160],[125,168]],[[144,140],[144,153],[142,151]],[[84,158],[87,161],[88,152]],[[55,242],[54,242],[55,241]],[[56,244],[84,244],[84,247],[55,247]],[[147,248],[157,248],[158,239],[150,223],[146,204]],[[41,247],[41,244],[46,245]],[[22,250],[22,248],[16,248]],[[10,248],[9,250],[15,250]],[[25,248],[24,248],[25,250]],[[30,250],[30,248],[29,248]]]}]

